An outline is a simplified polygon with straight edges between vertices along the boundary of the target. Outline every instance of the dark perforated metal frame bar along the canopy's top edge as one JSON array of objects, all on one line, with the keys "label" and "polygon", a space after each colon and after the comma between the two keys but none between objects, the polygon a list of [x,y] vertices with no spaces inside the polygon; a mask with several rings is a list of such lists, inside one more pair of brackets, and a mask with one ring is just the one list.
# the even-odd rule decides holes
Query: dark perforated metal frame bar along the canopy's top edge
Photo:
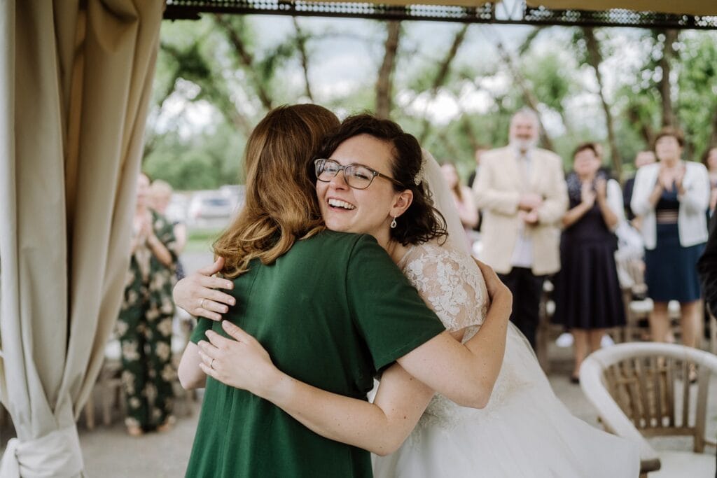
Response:
[{"label": "dark perforated metal frame bar along the canopy's top edge", "polygon": [[[420,1],[420,0],[417,0]],[[450,0],[447,0],[450,1]],[[522,24],[577,27],[635,27],[717,29],[717,16],[637,12],[551,10],[531,7],[524,0],[503,0],[477,7],[341,3],[303,0],[167,0],[165,19],[199,19],[202,13],[323,16],[376,20],[453,21],[460,23]]]}]

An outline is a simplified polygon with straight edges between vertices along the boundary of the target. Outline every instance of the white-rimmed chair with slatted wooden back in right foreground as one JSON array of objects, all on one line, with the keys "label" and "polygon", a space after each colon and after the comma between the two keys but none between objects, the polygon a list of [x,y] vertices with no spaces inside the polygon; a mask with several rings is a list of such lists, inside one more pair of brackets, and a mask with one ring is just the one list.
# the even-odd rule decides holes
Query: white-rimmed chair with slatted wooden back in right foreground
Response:
[{"label": "white-rimmed chair with slatted wooden back in right foreground", "polygon": [[[696,367],[697,383],[683,380]],[[717,356],[683,345],[622,343],[582,363],[580,385],[605,429],[640,446],[640,476],[713,477],[705,454],[707,401]],[[686,406],[683,406],[686,404]],[[655,451],[645,437],[692,436],[693,451]]]}]

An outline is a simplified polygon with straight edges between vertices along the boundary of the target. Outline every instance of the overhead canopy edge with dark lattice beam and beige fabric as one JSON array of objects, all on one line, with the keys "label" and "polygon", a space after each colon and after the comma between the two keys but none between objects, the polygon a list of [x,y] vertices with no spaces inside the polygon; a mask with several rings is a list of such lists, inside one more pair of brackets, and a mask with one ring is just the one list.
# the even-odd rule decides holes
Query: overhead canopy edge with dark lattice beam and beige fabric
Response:
[{"label": "overhead canopy edge with dark lattice beam and beige fabric", "polygon": [[[643,11],[646,8],[652,11]],[[341,0],[167,0],[164,18],[198,19],[201,13],[717,29],[717,2],[703,0],[377,0],[363,3]]]}]

